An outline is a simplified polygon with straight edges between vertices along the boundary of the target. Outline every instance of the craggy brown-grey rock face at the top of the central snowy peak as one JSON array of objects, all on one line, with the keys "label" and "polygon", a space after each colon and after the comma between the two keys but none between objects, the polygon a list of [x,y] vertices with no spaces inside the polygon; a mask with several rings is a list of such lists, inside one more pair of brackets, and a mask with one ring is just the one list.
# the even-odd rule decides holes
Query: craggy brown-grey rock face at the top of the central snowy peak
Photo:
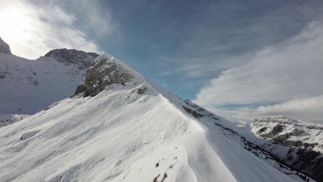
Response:
[{"label": "craggy brown-grey rock face at the top of the central snowy peak", "polygon": [[[109,55],[100,55],[86,71],[86,79],[77,87],[75,94],[84,92],[84,97],[94,97],[112,84],[126,85],[133,81],[135,75],[125,65]],[[146,92],[140,90],[139,92]]]}]

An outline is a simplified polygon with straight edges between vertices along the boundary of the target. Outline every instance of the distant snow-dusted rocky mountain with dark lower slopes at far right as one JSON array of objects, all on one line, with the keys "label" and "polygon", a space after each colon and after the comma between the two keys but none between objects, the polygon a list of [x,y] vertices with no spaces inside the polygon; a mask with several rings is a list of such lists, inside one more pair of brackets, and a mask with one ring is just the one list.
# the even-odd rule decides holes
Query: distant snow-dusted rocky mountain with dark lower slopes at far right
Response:
[{"label": "distant snow-dusted rocky mountain with dark lower slopes at far right", "polygon": [[323,125],[288,117],[267,117],[252,123],[258,144],[292,168],[323,181]]}]

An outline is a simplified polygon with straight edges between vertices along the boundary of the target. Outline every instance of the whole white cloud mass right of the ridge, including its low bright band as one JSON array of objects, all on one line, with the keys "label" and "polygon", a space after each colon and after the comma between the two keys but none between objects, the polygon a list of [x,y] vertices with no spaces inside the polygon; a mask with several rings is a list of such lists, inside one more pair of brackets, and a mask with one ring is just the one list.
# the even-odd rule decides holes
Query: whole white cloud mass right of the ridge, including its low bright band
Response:
[{"label": "whole white cloud mass right of the ridge, including its low bright band", "polygon": [[[255,52],[202,88],[195,103],[233,121],[287,115],[323,121],[323,23],[313,21],[286,41]],[[222,104],[271,103],[258,108],[221,110]]]}]

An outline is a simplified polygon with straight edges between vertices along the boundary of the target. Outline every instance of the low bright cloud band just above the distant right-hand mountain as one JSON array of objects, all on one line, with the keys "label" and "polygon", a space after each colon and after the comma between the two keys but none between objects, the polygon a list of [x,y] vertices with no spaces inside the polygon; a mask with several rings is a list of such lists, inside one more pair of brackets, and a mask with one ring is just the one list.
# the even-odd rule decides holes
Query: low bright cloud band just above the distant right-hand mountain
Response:
[{"label": "low bright cloud band just above the distant right-hand mountain", "polygon": [[323,95],[306,99],[295,99],[274,105],[260,106],[255,109],[241,108],[235,112],[234,117],[239,119],[286,115],[296,119],[322,123]]}]

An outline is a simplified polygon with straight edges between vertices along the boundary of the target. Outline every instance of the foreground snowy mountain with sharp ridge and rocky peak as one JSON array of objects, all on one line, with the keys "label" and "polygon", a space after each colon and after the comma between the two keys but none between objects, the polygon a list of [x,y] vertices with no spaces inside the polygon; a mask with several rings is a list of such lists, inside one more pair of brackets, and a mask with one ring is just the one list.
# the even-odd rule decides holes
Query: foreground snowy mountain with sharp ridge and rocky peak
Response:
[{"label": "foreground snowy mountain with sharp ridge and rocky peak", "polygon": [[0,179],[313,181],[228,125],[101,55],[73,97],[0,128]]}]

